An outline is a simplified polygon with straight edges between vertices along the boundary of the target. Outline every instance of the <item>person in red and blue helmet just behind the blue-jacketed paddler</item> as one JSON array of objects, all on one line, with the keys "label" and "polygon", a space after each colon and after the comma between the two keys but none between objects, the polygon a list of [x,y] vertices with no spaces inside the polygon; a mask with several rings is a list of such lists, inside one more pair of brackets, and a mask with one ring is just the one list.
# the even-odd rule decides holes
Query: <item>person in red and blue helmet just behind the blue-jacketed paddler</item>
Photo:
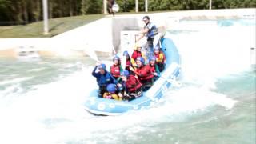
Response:
[{"label": "person in red and blue helmet just behind the blue-jacketed paddler", "polygon": [[118,56],[114,56],[113,62],[114,64],[110,66],[110,74],[112,74],[112,76],[119,81],[121,80],[120,73],[122,72],[120,58]]}]

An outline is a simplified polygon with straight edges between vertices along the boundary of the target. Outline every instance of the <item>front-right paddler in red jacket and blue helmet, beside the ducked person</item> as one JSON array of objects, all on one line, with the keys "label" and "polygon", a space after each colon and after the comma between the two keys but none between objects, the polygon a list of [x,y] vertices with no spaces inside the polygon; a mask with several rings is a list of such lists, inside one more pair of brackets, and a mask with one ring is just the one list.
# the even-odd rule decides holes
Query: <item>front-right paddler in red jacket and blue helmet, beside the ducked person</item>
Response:
[{"label": "front-right paddler in red jacket and blue helmet, beside the ducked person", "polygon": [[130,74],[128,70],[122,71],[121,78],[122,82],[118,84],[118,87],[123,87],[119,93],[123,100],[131,101],[142,96],[142,83],[138,78]]}]

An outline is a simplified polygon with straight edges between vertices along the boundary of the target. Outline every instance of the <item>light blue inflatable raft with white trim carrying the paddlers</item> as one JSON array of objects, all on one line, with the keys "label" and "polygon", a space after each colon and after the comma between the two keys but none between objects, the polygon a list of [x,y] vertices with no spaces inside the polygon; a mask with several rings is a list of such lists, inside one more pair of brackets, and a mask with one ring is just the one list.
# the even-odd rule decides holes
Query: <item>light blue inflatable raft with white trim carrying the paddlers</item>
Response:
[{"label": "light blue inflatable raft with white trim carrying the paddlers", "polygon": [[144,107],[152,106],[162,98],[162,92],[170,86],[180,73],[180,55],[174,42],[170,38],[162,38],[162,50],[166,54],[166,69],[162,71],[161,77],[154,82],[142,97],[130,102],[116,101],[114,99],[99,98],[98,90],[92,90],[84,103],[85,109],[92,114],[118,115],[131,110],[140,110]]}]

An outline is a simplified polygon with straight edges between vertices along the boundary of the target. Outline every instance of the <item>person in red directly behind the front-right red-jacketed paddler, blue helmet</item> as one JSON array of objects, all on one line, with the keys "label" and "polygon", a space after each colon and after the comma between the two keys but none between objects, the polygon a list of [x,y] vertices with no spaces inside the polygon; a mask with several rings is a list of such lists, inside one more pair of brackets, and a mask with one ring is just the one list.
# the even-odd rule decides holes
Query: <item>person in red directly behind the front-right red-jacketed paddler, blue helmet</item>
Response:
[{"label": "person in red directly behind the front-right red-jacketed paddler, blue helmet", "polygon": [[151,73],[150,66],[145,65],[145,60],[142,57],[138,57],[136,60],[137,69],[134,73],[138,76],[140,82],[142,82],[142,90],[148,90],[154,83],[154,74]]}]

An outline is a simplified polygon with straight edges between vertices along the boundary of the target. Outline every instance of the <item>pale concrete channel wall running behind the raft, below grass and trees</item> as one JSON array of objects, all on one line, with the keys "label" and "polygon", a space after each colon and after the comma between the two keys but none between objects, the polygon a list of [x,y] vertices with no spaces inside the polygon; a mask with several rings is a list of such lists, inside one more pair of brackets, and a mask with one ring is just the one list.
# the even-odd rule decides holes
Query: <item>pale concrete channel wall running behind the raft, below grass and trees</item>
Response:
[{"label": "pale concrete channel wall running behind the raft, below grass and trees", "polygon": [[[154,14],[116,15],[91,22],[52,38],[0,38],[0,57],[17,57],[33,50],[41,55],[83,56],[88,50],[110,56],[120,48],[122,30],[140,30],[142,17],[149,15],[156,26],[180,29],[180,20],[205,20],[219,18],[255,18],[256,9],[189,10]],[[23,50],[23,53],[22,53]]]}]

